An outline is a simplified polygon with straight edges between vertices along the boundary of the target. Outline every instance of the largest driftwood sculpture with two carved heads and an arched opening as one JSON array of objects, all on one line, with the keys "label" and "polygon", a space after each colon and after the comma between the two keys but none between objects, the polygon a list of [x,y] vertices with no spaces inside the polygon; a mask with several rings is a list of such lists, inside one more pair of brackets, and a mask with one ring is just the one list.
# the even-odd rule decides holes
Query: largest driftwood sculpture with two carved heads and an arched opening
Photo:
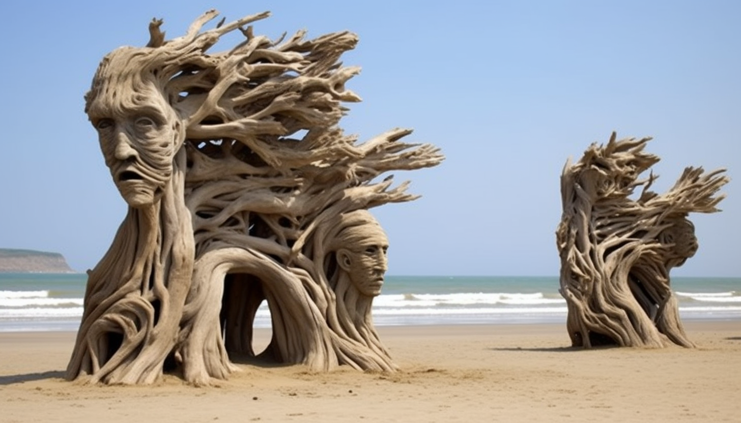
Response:
[{"label": "largest driftwood sculpture with two carved heads and an arched opening", "polygon": [[[129,206],[110,250],[89,271],[67,379],[150,383],[166,365],[193,384],[224,379],[230,357],[255,356],[253,320],[267,300],[262,353],[315,370],[394,370],[371,303],[386,270],[385,233],[367,209],[411,201],[389,170],[439,164],[430,144],[396,129],[362,144],[337,124],[338,59],[356,36],[254,36],[247,16],[211,30],[199,17],[165,41],[102,61],[86,112]],[[233,30],[241,44],[206,53]],[[167,363],[167,364],[166,364]]]}]

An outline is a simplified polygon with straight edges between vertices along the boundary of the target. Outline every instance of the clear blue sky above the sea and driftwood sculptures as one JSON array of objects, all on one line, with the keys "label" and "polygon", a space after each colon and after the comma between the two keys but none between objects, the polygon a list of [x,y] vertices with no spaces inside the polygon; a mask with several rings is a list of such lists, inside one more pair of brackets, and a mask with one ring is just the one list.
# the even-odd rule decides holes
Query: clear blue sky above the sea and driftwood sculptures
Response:
[{"label": "clear blue sky above the sea and driftwood sculptures", "polygon": [[[396,175],[417,201],[373,209],[391,275],[556,276],[559,175],[593,141],[653,136],[664,192],[685,166],[728,168],[721,213],[674,276],[741,276],[741,2],[3,1],[0,247],[93,267],[125,213],[82,96],[107,52],[165,19],[270,10],[255,33],[352,30],[347,133],[411,127],[447,159]],[[217,19],[218,20],[218,19]],[[215,21],[212,23],[215,24]],[[227,40],[228,41],[228,40]],[[213,51],[232,44],[217,44]]]}]

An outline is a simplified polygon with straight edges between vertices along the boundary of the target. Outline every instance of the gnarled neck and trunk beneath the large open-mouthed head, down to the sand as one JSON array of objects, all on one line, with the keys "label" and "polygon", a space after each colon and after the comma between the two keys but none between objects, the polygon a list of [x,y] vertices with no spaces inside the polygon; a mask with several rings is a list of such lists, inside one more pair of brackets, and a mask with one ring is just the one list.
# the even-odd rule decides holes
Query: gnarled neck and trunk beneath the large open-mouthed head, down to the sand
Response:
[{"label": "gnarled neck and trunk beneath the large open-mouthed head, down to the sand", "polygon": [[[185,152],[179,160],[185,164]],[[193,272],[190,212],[176,170],[162,201],[130,208],[88,273],[84,314],[67,376],[152,383],[173,349]]]}]

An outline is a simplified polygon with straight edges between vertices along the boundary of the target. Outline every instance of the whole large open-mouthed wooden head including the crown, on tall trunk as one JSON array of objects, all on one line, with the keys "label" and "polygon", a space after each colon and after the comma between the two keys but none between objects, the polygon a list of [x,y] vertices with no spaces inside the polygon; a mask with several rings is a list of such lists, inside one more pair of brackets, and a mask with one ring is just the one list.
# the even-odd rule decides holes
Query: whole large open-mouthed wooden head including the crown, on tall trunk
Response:
[{"label": "whole large open-mouthed wooden head including the crown, on tall trunk", "polygon": [[[142,61],[141,73],[120,73]],[[156,72],[134,50],[113,51],[87,93],[87,116],[98,131],[105,164],[131,207],[158,201],[173,174],[173,156],[185,139],[182,124],[158,90]]]}]

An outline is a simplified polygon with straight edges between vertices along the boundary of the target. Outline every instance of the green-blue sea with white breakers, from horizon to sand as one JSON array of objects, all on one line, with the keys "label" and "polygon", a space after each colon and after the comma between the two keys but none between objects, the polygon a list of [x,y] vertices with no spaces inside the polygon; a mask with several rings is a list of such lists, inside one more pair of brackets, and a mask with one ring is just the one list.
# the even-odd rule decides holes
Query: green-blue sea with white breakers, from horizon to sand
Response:
[{"label": "green-blue sea with white breakers, from horizon to sand", "polygon": [[[0,332],[71,330],[82,319],[87,275],[0,273]],[[683,320],[741,320],[741,278],[673,278]],[[565,323],[557,276],[386,276],[376,326]],[[270,327],[263,303],[255,327]]]}]

